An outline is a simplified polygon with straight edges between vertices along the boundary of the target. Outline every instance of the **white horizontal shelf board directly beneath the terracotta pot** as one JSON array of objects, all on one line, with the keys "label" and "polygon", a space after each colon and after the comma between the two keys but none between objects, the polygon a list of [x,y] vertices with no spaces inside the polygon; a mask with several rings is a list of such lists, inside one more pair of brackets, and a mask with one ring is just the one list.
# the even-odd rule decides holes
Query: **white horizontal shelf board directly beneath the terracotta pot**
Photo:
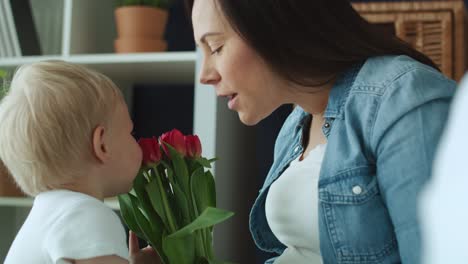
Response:
[{"label": "white horizontal shelf board directly beneath the terracotta pot", "polygon": [[43,60],[64,60],[86,65],[109,76],[116,82],[191,84],[195,78],[196,53],[190,51],[109,53],[1,58],[0,68],[13,71],[20,65]]}]

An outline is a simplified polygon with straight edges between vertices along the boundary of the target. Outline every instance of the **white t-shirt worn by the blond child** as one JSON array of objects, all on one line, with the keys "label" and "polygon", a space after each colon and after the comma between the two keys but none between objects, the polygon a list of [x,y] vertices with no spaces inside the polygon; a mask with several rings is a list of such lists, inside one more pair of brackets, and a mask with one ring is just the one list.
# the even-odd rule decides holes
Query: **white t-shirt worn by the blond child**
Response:
[{"label": "white t-shirt worn by the blond child", "polygon": [[126,233],[115,212],[92,196],[54,190],[35,198],[5,264],[64,264],[108,255],[128,259]]}]

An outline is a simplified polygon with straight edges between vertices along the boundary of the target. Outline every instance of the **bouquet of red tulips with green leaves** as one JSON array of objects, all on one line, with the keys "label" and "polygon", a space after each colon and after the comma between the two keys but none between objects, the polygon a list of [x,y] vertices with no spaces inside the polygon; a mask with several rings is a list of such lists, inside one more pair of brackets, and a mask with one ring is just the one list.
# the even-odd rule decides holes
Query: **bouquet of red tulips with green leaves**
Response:
[{"label": "bouquet of red tulips with green leaves", "polygon": [[164,264],[217,263],[214,225],[233,213],[216,208],[214,161],[201,156],[198,136],[174,129],[139,142],[143,164],[128,194],[119,196],[130,230],[157,250]]}]

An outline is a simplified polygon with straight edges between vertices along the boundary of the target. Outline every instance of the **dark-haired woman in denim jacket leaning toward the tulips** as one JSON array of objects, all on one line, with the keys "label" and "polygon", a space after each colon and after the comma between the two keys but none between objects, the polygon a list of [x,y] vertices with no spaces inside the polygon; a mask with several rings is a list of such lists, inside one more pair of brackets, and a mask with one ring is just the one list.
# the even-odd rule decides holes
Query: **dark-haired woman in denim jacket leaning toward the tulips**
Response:
[{"label": "dark-haired woman in denim jacket leaning toward the tulips", "polygon": [[267,263],[419,263],[455,82],[347,0],[192,0],[200,81],[246,125],[295,104],[253,205]]}]

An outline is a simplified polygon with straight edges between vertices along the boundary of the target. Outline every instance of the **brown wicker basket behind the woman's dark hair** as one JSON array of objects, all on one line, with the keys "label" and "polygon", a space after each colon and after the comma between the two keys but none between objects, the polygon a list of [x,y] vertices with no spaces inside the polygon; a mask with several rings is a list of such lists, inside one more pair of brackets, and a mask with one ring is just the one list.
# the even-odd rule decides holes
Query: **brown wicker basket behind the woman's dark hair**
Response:
[{"label": "brown wicker basket behind the woman's dark hair", "polygon": [[467,15],[463,1],[355,3],[369,22],[393,24],[395,34],[459,81],[467,69]]}]

